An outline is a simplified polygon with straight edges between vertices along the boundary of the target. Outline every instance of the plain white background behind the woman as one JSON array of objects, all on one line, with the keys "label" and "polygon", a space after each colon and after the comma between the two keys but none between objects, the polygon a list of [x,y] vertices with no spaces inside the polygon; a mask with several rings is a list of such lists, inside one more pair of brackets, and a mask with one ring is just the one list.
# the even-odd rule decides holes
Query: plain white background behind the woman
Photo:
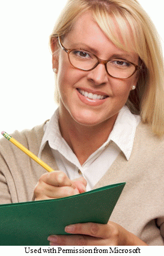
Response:
[{"label": "plain white background behind the woman", "polygon": [[[65,2],[0,0],[0,132],[31,129],[56,109],[49,35]],[[164,41],[162,1],[139,2]]]}]

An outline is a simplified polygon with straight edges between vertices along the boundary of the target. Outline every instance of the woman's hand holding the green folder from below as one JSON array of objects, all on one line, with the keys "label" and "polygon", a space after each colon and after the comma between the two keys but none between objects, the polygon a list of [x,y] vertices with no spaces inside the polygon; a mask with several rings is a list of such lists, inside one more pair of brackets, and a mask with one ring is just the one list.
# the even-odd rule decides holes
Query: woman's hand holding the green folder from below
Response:
[{"label": "woman's hand holding the green folder from below", "polygon": [[48,237],[50,245],[146,245],[122,226],[110,221],[108,224],[78,223],[66,226],[65,232],[73,235],[50,235]]}]

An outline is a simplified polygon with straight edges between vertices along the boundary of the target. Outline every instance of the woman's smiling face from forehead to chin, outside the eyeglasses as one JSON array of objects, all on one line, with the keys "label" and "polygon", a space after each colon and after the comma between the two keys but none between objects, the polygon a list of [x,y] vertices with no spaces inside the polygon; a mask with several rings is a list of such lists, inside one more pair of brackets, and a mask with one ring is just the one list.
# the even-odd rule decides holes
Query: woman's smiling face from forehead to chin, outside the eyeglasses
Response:
[{"label": "woman's smiling face from forehead to chin, outside the eyeglasses", "polygon": [[[102,60],[119,56],[119,59],[138,65],[138,55],[117,48],[94,21],[91,13],[85,13],[77,19],[62,43],[65,48],[87,50]],[[59,50],[58,60],[53,59],[53,68],[58,69],[61,116],[85,126],[96,126],[106,121],[114,123],[119,110],[126,104],[132,86],[137,82],[136,73],[127,79],[110,77],[103,64],[91,71],[76,69],[71,66],[67,53],[62,49]],[[82,95],[84,92],[85,95]],[[88,98],[88,93],[93,94],[94,99]],[[103,99],[99,99],[99,95]]]}]

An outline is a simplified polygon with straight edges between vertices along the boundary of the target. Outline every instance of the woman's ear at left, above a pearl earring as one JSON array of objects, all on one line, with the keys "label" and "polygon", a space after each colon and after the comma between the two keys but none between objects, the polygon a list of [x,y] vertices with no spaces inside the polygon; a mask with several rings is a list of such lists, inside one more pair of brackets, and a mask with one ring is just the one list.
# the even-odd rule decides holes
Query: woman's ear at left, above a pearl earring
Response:
[{"label": "woman's ear at left, above a pearl earring", "polygon": [[58,69],[58,38],[52,37],[50,40],[50,48],[52,51],[52,69]]}]

